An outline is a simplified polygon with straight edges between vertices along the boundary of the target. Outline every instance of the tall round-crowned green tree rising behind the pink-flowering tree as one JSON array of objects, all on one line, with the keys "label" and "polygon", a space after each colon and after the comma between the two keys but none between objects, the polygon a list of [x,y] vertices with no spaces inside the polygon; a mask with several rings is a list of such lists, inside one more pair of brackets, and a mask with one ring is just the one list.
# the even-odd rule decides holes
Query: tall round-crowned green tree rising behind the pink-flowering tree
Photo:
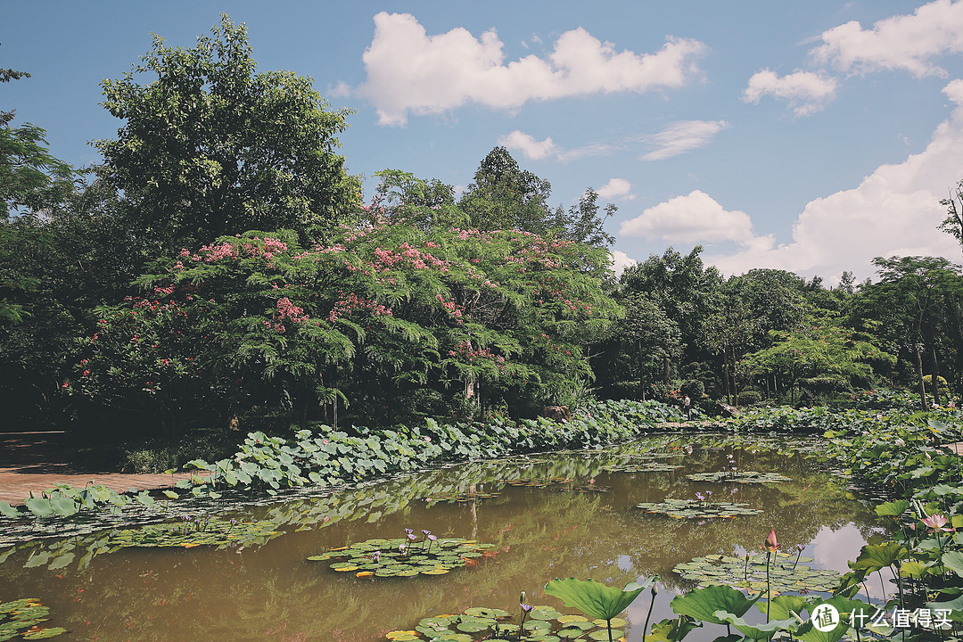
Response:
[{"label": "tall round-crowned green tree rising behind the pink-flowering tree", "polygon": [[256,73],[244,24],[222,14],[211,33],[190,49],[154,35],[141,64],[102,85],[125,122],[95,145],[125,216],[160,253],[250,229],[330,234],[360,196],[334,151],[348,113],[330,111],[309,78]]}]

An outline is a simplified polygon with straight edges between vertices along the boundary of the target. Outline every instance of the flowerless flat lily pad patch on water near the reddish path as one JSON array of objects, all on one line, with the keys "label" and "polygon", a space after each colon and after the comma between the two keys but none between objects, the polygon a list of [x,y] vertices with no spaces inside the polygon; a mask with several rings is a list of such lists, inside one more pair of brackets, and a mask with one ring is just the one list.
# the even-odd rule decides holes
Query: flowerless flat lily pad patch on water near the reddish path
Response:
[{"label": "flowerless flat lily pad patch on water near the reddish path", "polygon": [[196,546],[249,546],[263,544],[280,535],[271,522],[239,522],[212,518],[181,518],[180,522],[150,524],[140,528],[117,530],[107,546],[119,548],[166,548]]}]

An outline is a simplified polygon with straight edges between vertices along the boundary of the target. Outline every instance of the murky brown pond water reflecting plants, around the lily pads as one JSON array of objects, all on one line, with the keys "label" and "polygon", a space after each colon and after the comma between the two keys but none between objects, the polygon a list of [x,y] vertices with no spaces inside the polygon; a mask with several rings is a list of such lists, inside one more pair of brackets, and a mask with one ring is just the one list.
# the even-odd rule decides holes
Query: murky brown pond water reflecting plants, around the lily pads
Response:
[{"label": "murky brown pond water reflecting plants, around the lily pads", "polygon": [[[51,609],[50,624],[68,629],[54,639],[366,642],[471,607],[507,609],[517,620],[521,591],[528,603],[577,613],[544,594],[552,578],[594,578],[620,588],[658,575],[654,623],[672,616],[674,594],[698,584],[674,572],[677,565],[706,555],[758,552],[770,529],[783,551],[791,552],[784,568],[792,566],[800,545],[803,567],[846,572],[846,560],[882,529],[872,510],[853,499],[844,477],[806,456],[814,449],[818,442],[772,437],[653,436],[614,449],[468,463],[265,505],[237,508],[233,502],[224,519],[269,527],[243,545],[220,550],[112,552],[117,538],[109,532],[0,550],[0,558],[6,557],[0,601],[38,598]],[[719,471],[786,479],[738,483],[687,476]],[[638,508],[677,499],[696,501],[697,511],[697,493],[762,512],[687,519]],[[184,510],[181,504],[177,510]],[[466,566],[413,577],[359,578],[357,573],[367,575],[363,567],[331,568],[344,568],[344,557],[308,559],[373,538],[405,538],[404,528],[416,539],[402,558],[423,549],[423,529],[439,538],[431,543],[435,552],[446,538],[488,546],[467,557]],[[385,554],[385,561],[399,559],[397,552]],[[631,642],[642,640],[648,607],[646,591],[629,609]],[[687,640],[723,633],[708,627]]]}]

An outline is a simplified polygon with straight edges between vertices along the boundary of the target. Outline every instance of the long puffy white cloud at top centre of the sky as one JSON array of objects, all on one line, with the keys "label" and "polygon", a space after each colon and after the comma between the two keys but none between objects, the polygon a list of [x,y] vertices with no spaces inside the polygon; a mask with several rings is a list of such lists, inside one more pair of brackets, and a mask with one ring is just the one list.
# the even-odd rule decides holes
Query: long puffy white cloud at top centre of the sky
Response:
[{"label": "long puffy white cloud at top centre of the sky", "polygon": [[616,52],[578,28],[556,40],[547,60],[531,54],[506,64],[493,29],[480,39],[460,27],[429,36],[413,15],[381,12],[356,94],[374,103],[380,124],[403,125],[409,113],[441,114],[469,102],[517,109],[529,100],[680,87],[704,51],[698,40],[669,37],[653,54]]}]

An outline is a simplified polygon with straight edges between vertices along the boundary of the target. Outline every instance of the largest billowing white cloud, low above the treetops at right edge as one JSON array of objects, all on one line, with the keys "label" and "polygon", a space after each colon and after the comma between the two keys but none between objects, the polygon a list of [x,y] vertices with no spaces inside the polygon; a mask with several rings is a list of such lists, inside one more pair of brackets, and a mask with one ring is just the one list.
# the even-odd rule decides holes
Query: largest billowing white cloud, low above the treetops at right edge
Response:
[{"label": "largest billowing white cloud, low above the treetops at right edge", "polygon": [[959,245],[937,226],[946,216],[940,199],[963,178],[963,80],[950,82],[944,92],[955,108],[923,152],[876,168],[858,187],[808,203],[794,224],[792,243],[756,238],[735,254],[706,261],[726,273],[777,268],[832,278],[850,270],[859,280],[872,276],[876,256],[958,261]]}]

